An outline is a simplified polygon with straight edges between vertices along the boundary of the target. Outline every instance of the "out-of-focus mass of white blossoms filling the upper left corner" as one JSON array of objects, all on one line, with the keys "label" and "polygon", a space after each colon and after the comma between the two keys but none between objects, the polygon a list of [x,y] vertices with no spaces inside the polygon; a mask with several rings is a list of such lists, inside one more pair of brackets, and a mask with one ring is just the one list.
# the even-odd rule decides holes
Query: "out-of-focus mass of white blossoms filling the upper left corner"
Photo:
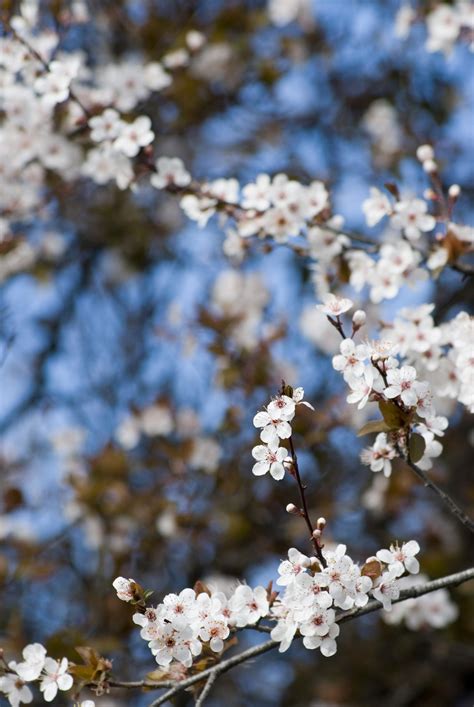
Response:
[{"label": "out-of-focus mass of white blossoms filling the upper left corner", "polygon": [[[198,58],[205,43],[190,31],[186,48],[161,61],[134,56],[88,66],[81,52],[59,48],[61,38],[51,27],[41,28],[35,7],[20,3],[10,20],[13,33],[0,40],[0,234],[37,212],[49,170],[65,181],[84,175],[97,184],[130,186],[133,158],[155,137],[147,115],[130,113],[166,90],[173,70]],[[87,17],[71,13],[69,21]],[[90,138],[85,150],[77,139],[83,135]],[[158,160],[158,175],[169,172],[165,162]],[[188,183],[183,170],[176,183]]]}]

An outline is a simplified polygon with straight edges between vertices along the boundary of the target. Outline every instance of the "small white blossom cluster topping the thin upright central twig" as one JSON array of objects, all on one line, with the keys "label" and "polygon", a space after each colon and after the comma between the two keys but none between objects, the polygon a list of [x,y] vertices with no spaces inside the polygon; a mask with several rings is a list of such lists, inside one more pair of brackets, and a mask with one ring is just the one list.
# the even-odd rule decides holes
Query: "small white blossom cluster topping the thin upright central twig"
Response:
[{"label": "small white blossom cluster topping the thin upright central twig", "polygon": [[[261,428],[260,439],[264,442],[252,449],[252,456],[256,460],[252,468],[255,476],[263,476],[268,471],[277,481],[285,476],[284,462],[288,453],[285,447],[280,447],[280,440],[291,437],[290,422],[295,416],[297,405],[306,405],[313,409],[303,397],[303,388],[295,388],[291,397],[279,395],[253,418],[255,427]],[[291,464],[291,458],[288,463]]]}]

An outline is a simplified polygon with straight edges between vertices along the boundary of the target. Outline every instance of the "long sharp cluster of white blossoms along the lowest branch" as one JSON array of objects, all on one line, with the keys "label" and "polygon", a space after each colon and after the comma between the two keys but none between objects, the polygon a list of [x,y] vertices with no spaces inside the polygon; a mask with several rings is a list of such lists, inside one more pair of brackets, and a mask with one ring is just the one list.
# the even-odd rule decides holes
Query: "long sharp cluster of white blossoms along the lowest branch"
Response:
[{"label": "long sharp cluster of white blossoms along the lowest branch", "polygon": [[[390,611],[391,602],[400,594],[399,578],[405,572],[419,571],[415,558],[419,550],[414,540],[401,547],[392,545],[390,550],[379,550],[361,569],[346,554],[345,545],[324,550],[325,567],[316,557],[290,548],[288,559],[278,567],[276,584],[283,587],[280,595],[246,584],[238,585],[230,596],[203,586],[200,591],[186,588],[166,595],[156,607],[135,613],[133,621],[164,668],[173,661],[189,668],[204,646],[221,653],[232,631],[264,618],[275,622],[271,637],[280,643],[280,652],[288,650],[293,638],[300,635],[306,648],[319,648],[323,655],[331,656],[336,653],[340,630],[336,609],[365,606],[372,593]],[[136,603],[133,579],[117,577],[113,585],[119,599]]]}]

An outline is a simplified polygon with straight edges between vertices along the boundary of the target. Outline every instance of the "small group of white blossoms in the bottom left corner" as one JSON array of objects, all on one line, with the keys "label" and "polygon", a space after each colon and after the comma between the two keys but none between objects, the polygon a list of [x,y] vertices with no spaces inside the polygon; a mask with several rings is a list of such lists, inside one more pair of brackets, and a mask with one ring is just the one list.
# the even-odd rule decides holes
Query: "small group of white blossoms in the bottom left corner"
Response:
[{"label": "small group of white blossoms in the bottom left corner", "polygon": [[68,660],[54,660],[46,655],[41,643],[31,643],[23,649],[23,660],[8,663],[8,672],[0,677],[0,692],[3,692],[12,707],[33,701],[29,682],[39,680],[45,702],[52,702],[58,690],[69,690],[73,684],[68,671]]}]

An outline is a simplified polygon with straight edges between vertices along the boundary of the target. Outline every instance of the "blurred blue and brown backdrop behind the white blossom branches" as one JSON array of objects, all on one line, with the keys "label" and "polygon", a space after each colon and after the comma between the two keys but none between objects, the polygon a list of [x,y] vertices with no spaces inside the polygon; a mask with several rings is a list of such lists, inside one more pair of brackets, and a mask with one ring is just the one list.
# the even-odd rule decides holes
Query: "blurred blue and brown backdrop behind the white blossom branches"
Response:
[{"label": "blurred blue and brown backdrop behind the white blossom branches", "polygon": [[[205,35],[191,66],[140,105],[158,154],[182,157],[197,178],[320,179],[348,227],[373,235],[361,211],[369,187],[395,180],[422,193],[414,153],[430,142],[445,183],[462,187],[459,221],[472,221],[472,57],[466,46],[449,57],[427,53],[423,23],[397,38],[398,2],[314,0],[283,26],[250,0],[88,4],[90,21],[62,43],[92,65],[159,60],[183,47],[189,30]],[[47,21],[63,10],[50,3]],[[316,408],[298,413],[295,431],[327,539],[364,560],[415,537],[431,577],[467,566],[469,537],[409,470],[396,467],[382,488],[361,466],[364,442],[331,367],[337,335],[314,316],[303,258],[255,244],[235,262],[223,253],[218,219],[199,229],[156,190],[51,176],[42,216],[22,235],[45,242],[44,256],[0,284],[8,653],[42,641],[77,660],[74,646],[90,645],[113,658],[116,675],[138,678],[154,663],[111,588],[117,575],[154,589],[158,601],[198,579],[266,584],[288,547],[307,549],[304,524],[284,512],[297,498],[290,480],[251,474],[252,417],[282,377],[304,386]],[[444,271],[436,284],[402,290],[381,318],[430,301],[437,321],[451,318],[472,303],[472,285]],[[139,439],[130,415],[144,420]],[[462,410],[443,443],[433,476],[472,507],[474,436]],[[371,615],[344,626],[331,659],[297,645],[269,654],[222,677],[209,705],[472,705],[472,595],[469,585],[455,591],[460,617],[439,632]],[[114,693],[98,704],[150,700]]]}]

